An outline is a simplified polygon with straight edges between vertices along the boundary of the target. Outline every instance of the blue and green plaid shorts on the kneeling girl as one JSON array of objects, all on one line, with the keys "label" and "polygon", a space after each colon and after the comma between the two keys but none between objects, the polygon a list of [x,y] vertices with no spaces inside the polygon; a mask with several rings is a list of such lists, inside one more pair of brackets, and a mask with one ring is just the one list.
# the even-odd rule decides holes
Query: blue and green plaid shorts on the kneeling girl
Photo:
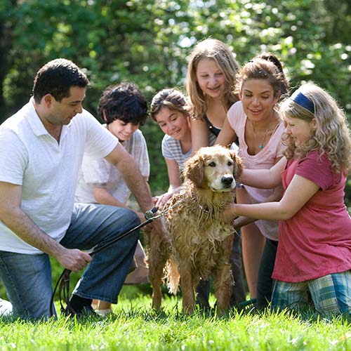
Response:
[{"label": "blue and green plaid shorts on the kneeling girl", "polygon": [[320,314],[351,314],[351,270],[300,283],[274,282],[272,310],[311,304]]}]

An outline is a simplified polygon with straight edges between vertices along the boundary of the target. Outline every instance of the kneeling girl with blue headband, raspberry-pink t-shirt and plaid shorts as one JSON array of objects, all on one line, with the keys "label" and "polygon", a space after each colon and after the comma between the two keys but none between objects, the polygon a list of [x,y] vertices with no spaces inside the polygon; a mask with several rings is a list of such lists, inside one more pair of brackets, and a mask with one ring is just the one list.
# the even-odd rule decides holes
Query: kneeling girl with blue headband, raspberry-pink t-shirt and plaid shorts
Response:
[{"label": "kneeling girl with blue headband, raspberry-pink t-shirt and plaid shorts", "polygon": [[345,114],[322,88],[305,84],[281,107],[285,157],[269,170],[246,169],[245,184],[282,184],[280,201],[232,205],[225,216],[279,220],[272,308],[314,303],[317,312],[351,313],[351,218],[344,187],[351,166]]}]

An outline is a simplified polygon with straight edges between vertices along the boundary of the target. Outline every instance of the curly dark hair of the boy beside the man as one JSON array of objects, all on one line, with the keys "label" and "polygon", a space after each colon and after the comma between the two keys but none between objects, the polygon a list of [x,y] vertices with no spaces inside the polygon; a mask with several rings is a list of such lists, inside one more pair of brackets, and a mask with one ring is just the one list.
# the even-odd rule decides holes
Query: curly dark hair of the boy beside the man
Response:
[{"label": "curly dark hair of the boy beside the man", "polygon": [[106,124],[120,119],[124,123],[143,125],[147,119],[147,102],[135,84],[123,81],[102,93],[98,117]]}]

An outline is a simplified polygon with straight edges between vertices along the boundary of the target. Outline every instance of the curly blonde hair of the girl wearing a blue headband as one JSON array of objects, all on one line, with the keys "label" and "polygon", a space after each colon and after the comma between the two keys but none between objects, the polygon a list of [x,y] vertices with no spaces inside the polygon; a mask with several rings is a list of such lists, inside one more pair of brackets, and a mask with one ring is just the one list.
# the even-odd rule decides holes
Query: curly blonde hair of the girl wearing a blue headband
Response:
[{"label": "curly blonde hair of the girl wearing a blue headband", "polygon": [[351,135],[345,112],[329,93],[312,82],[300,86],[298,91],[313,103],[314,113],[287,98],[280,107],[281,116],[283,119],[291,117],[307,122],[314,119],[316,128],[311,131],[310,138],[297,147],[291,136],[285,134],[285,156],[288,159],[305,157],[315,150],[328,156],[334,172],[348,173],[351,166]]}]

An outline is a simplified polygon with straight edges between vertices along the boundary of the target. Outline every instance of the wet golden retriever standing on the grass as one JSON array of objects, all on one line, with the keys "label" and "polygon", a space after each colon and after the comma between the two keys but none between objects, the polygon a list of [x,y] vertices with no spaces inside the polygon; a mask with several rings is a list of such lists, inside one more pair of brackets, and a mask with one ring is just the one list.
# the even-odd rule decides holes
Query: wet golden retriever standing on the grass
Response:
[{"label": "wet golden retriever standing on the grass", "polygon": [[235,152],[217,145],[202,147],[187,161],[183,190],[165,206],[177,204],[164,216],[171,244],[145,232],[152,305],[156,310],[161,308],[165,275],[171,293],[178,291],[180,282],[185,313],[194,311],[194,289],[199,280],[210,277],[214,277],[218,309],[223,312],[230,307],[234,229],[220,219],[220,213],[234,201],[235,178],[241,171],[241,160]]}]

